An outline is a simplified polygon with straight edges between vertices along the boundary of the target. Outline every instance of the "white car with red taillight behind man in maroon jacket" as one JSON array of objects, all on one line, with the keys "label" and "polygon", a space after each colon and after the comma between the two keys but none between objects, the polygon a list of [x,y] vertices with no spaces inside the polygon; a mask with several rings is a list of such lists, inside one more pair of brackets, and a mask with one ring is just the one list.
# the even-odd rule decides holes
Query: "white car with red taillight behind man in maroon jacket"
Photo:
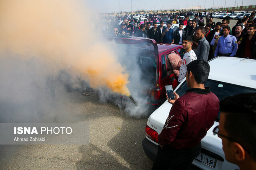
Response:
[{"label": "white car with red taillight behind man in maroon jacket", "polygon": [[[226,96],[240,93],[256,92],[256,60],[236,57],[216,57],[209,61],[210,74],[205,86],[210,86],[211,92],[219,100]],[[179,96],[185,94],[188,86],[184,79],[174,90]],[[146,155],[154,160],[156,158],[158,134],[161,133],[172,104],[166,100],[162,106],[154,111],[148,118],[146,137],[142,146]],[[219,117],[202,139],[201,153],[194,159],[193,165],[203,170],[234,170],[238,166],[227,162],[222,150],[222,140],[213,135],[213,129],[219,125]]]}]

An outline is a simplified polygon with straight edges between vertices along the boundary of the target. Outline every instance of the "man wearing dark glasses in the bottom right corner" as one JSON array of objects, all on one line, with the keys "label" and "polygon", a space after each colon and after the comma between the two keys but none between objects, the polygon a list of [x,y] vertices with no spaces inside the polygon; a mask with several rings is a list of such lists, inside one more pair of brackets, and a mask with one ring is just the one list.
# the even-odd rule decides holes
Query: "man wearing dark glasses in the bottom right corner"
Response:
[{"label": "man wearing dark glasses in the bottom right corner", "polygon": [[220,102],[220,124],[214,135],[222,139],[228,162],[240,170],[256,169],[256,93],[229,96]]}]

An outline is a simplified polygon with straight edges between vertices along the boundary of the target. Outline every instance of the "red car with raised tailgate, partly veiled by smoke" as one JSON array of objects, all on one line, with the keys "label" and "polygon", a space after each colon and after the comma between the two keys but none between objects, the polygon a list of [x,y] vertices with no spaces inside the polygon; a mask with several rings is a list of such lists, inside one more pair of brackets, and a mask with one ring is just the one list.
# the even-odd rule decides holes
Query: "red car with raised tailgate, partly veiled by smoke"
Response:
[{"label": "red car with raised tailgate, partly veiled by smoke", "polygon": [[[164,86],[177,86],[177,79],[167,57],[172,51],[183,58],[182,45],[156,43],[142,37],[108,38],[116,43],[120,63],[130,72],[128,88],[137,102],[160,106],[165,100]],[[127,96],[121,96],[128,98]]]}]

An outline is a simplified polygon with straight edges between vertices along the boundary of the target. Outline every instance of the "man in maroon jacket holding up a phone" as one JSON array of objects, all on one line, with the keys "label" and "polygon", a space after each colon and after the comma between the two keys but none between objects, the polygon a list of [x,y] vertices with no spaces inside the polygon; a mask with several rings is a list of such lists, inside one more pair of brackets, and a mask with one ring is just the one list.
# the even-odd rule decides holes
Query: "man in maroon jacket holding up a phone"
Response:
[{"label": "man in maroon jacket holding up a phone", "polygon": [[187,66],[190,89],[175,99],[158,137],[159,145],[153,169],[189,169],[201,150],[201,139],[218,117],[219,100],[204,87],[210,72],[206,61],[194,60]]}]

